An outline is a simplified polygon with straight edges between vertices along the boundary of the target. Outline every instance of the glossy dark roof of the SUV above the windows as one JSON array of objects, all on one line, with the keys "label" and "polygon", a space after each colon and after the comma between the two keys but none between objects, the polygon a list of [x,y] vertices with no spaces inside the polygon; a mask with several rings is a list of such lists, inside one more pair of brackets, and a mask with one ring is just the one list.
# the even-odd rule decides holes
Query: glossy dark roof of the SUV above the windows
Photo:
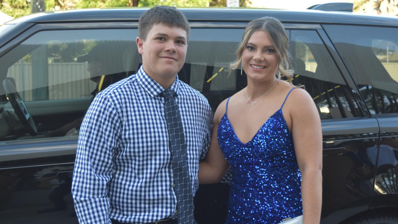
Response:
[{"label": "glossy dark roof of the SUV above the windows", "polygon": [[[62,23],[90,21],[138,21],[149,8],[105,8],[41,12],[23,16],[8,23]],[[263,16],[272,16],[284,23],[332,23],[398,26],[398,17],[369,16],[347,12],[319,10],[270,10],[253,8],[179,8],[189,21],[246,22]]]}]

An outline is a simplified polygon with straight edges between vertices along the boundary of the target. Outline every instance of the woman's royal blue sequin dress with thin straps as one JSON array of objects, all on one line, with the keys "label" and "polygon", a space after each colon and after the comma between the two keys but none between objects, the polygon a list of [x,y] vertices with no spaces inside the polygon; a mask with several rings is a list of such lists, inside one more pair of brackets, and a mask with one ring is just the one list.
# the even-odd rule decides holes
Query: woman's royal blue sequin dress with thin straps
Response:
[{"label": "woman's royal blue sequin dress with thin straps", "polygon": [[236,136],[226,110],[221,118],[217,136],[233,175],[228,224],[273,224],[302,215],[301,173],[293,137],[282,115],[283,104],[246,144]]}]

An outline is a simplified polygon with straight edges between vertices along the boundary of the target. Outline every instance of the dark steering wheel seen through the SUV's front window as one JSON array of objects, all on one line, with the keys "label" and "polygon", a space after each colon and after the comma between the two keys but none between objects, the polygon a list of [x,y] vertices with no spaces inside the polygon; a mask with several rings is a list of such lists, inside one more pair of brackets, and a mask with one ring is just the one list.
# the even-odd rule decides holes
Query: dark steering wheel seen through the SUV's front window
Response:
[{"label": "dark steering wheel seen through the SUV's front window", "polygon": [[17,92],[17,89],[12,84],[11,80],[7,78],[3,80],[3,87],[7,93],[8,99],[10,100],[12,108],[14,108],[14,112],[18,116],[18,119],[20,119],[25,131],[27,131],[31,136],[36,136],[37,129],[35,122],[27,111],[25,103],[23,103],[20,94]]}]

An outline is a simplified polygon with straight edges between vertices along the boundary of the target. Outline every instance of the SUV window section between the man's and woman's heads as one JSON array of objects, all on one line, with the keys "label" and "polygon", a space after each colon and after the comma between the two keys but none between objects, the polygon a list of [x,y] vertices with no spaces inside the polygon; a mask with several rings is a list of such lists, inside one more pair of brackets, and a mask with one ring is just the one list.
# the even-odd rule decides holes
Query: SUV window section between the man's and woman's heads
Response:
[{"label": "SUV window section between the man's and woman's heads", "polygon": [[[185,64],[190,67],[189,84],[200,92],[236,90],[236,72],[228,76],[230,62],[243,29],[192,29]],[[240,68],[239,68],[240,70]]]}]

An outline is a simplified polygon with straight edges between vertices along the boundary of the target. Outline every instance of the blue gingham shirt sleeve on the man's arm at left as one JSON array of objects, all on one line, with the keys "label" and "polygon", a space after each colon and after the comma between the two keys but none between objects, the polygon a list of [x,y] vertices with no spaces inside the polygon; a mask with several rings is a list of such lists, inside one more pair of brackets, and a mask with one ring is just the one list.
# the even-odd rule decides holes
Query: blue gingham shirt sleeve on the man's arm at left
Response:
[{"label": "blue gingham shirt sleeve on the man's arm at left", "polygon": [[98,95],[80,127],[72,180],[72,196],[79,222],[111,224],[107,183],[113,175],[121,119],[113,103]]}]

